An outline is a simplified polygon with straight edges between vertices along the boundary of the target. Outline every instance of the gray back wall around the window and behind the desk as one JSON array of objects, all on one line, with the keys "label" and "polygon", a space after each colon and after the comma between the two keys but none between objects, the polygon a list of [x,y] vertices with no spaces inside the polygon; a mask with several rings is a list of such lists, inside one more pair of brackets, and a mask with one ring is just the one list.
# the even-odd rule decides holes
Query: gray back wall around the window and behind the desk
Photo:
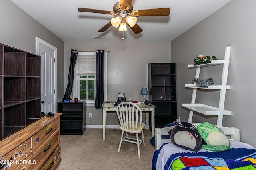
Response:
[{"label": "gray back wall around the window and behind the desk", "polygon": [[[171,42],[64,42],[64,75],[68,75],[70,51],[96,51],[105,49],[108,53],[108,100],[116,100],[118,92],[124,92],[126,99],[142,101],[142,87],[148,86],[148,63],[170,62]],[[64,90],[68,77],[64,76]],[[148,99],[148,96],[145,96]],[[102,125],[102,109],[87,107],[92,113],[92,125]],[[86,118],[86,124],[90,120]],[[109,113],[107,125],[118,125],[116,114]]]}]

